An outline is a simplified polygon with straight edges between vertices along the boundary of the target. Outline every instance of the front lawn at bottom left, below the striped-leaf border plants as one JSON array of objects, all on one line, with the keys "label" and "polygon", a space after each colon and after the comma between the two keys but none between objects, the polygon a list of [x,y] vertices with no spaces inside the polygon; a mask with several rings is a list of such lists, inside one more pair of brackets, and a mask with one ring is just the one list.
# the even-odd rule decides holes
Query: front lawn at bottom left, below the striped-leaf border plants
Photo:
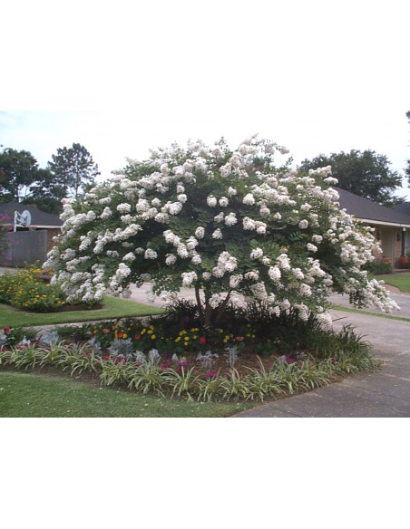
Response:
[{"label": "front lawn at bottom left, below the striped-leaf border plants", "polygon": [[229,417],[251,409],[249,402],[197,402],[99,388],[65,377],[0,371],[0,417]]}]

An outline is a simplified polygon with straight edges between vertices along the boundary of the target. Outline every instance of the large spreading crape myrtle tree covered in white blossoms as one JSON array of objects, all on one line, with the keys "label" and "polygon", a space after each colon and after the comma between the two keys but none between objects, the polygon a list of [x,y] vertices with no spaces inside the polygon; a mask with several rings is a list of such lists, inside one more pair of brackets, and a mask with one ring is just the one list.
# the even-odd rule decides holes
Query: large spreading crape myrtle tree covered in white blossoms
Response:
[{"label": "large spreading crape myrtle tree covered in white blossoms", "polygon": [[329,167],[299,175],[276,166],[285,152],[258,137],[234,151],[223,139],[151,151],[84,201],[64,200],[62,235],[44,266],[69,303],[147,280],[164,302],[192,287],[204,327],[238,294],[327,325],[330,289],[390,312],[395,303],[362,270],[378,250],[371,229],[340,211]]}]

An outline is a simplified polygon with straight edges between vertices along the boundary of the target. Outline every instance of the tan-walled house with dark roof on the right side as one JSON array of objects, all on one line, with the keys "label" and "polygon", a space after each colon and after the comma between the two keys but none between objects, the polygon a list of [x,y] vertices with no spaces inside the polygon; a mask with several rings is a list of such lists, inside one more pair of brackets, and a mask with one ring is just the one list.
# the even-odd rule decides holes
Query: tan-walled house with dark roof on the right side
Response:
[{"label": "tan-walled house with dark roof on the right side", "polygon": [[335,189],[340,195],[340,207],[358,222],[375,228],[376,239],[383,250],[382,258],[387,257],[397,267],[400,255],[410,250],[410,211],[400,207],[391,209],[345,189]]}]

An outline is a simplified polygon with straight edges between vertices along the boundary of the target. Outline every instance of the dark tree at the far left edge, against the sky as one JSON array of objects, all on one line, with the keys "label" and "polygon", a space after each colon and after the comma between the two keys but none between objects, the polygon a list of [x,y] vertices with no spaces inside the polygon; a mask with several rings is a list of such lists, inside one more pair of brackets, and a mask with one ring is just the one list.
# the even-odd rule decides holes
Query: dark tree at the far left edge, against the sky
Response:
[{"label": "dark tree at the far left edge, against the sky", "polygon": [[4,149],[0,153],[1,202],[21,201],[38,178],[38,163],[27,150]]}]

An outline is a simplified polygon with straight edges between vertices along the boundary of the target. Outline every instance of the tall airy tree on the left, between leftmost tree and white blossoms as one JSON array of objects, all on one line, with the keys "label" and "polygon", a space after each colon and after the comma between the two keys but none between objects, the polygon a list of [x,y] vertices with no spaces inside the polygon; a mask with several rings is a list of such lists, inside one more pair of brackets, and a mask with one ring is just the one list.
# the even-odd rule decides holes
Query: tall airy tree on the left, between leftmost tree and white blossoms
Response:
[{"label": "tall airy tree on the left, between leftmost tree and white blossoms", "polygon": [[47,168],[62,188],[63,197],[79,198],[100,174],[93,157],[80,143],[73,143],[70,149],[57,149],[52,159]]}]

